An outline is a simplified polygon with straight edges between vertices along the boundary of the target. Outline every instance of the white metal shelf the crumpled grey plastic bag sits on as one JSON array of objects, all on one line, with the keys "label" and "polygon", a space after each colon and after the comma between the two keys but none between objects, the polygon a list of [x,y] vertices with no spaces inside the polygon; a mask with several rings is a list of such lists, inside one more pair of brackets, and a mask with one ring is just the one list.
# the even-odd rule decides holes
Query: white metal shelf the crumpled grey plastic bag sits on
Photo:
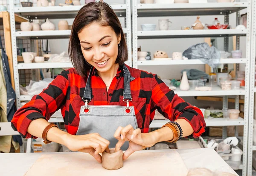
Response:
[{"label": "white metal shelf the crumpled grey plastic bag sits on", "polygon": [[[233,63],[246,63],[245,58],[241,59],[221,59],[220,64],[233,64]],[[168,59],[159,59],[159,60],[138,60],[137,64],[139,66],[156,66],[156,65],[198,65],[198,64],[205,64],[199,59],[194,60],[172,60],[172,58]]]}]

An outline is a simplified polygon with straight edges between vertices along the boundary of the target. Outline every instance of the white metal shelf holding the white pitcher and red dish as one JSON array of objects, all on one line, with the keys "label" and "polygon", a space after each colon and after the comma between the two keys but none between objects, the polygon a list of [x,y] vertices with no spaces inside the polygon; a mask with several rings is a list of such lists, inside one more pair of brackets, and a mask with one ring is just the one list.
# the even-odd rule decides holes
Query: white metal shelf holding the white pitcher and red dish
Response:
[{"label": "white metal shelf holding the white pitcher and red dish", "polygon": [[198,38],[245,36],[247,29],[202,29],[202,30],[167,30],[138,31],[138,39]]}]

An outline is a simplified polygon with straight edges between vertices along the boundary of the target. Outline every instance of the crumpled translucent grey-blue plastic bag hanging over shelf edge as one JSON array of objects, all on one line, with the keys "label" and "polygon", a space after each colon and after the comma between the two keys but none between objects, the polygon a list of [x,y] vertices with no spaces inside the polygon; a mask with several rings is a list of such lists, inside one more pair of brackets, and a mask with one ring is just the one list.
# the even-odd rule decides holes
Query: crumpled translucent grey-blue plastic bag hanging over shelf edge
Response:
[{"label": "crumpled translucent grey-blue plastic bag hanging over shelf edge", "polygon": [[212,68],[216,68],[220,63],[221,53],[214,46],[210,47],[208,43],[198,43],[186,49],[183,56],[188,59],[199,59]]}]

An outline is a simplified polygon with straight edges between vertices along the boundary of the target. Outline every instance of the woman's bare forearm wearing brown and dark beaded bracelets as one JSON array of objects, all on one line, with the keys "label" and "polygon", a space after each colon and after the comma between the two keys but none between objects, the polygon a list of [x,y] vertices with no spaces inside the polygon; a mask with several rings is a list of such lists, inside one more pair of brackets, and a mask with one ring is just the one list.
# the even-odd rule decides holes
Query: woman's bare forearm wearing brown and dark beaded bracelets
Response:
[{"label": "woman's bare forearm wearing brown and dark beaded bracelets", "polygon": [[[192,126],[185,119],[177,119],[175,120],[175,122],[177,122],[180,125],[183,131],[183,137],[189,136],[193,133]],[[154,140],[156,141],[156,143],[169,141],[173,139],[173,132],[172,129],[169,127],[163,127],[150,133],[152,136],[154,136]]]}]

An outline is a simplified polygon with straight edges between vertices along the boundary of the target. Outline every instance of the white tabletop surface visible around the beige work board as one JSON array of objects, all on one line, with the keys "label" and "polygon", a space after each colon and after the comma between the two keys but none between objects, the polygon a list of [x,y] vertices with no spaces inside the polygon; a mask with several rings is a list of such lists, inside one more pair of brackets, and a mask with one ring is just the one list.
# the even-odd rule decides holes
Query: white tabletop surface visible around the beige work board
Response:
[{"label": "white tabletop surface visible around the beige work board", "polygon": [[[139,152],[164,152],[166,150],[142,150]],[[212,171],[236,172],[215,152],[209,148],[176,150],[188,169],[206,167]],[[42,155],[52,153],[0,153],[0,175],[23,176]],[[63,152],[55,153],[63,155]],[[238,174],[236,174],[238,176]]]}]

